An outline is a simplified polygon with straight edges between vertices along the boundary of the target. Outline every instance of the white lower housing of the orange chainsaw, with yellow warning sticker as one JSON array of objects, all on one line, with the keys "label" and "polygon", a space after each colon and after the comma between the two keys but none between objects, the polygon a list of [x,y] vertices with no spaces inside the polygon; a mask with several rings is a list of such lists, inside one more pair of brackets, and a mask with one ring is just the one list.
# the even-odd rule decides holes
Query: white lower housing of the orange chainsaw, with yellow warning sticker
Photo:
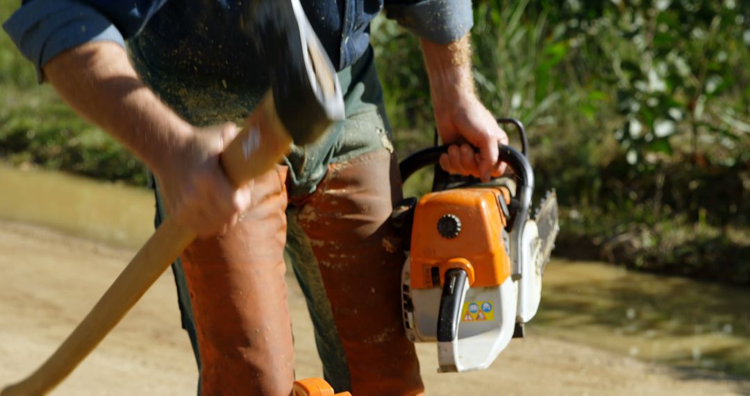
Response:
[{"label": "white lower housing of the orange chainsaw, with yellow warning sticker", "polygon": [[[510,343],[516,324],[526,323],[534,317],[541,300],[540,245],[536,223],[527,220],[520,246],[521,263],[511,263],[514,275],[506,278],[498,287],[472,288],[466,281],[460,300],[462,317],[459,319],[458,337],[452,342],[437,343],[438,371],[477,371],[489,367]],[[518,247],[511,243],[509,248],[510,257],[518,257],[513,252]],[[442,289],[412,289],[410,269],[407,255],[401,273],[401,303],[407,338],[413,342],[437,342]],[[518,276],[517,269],[521,269],[522,276]],[[475,315],[465,317],[472,302],[482,311],[484,320],[475,320]],[[490,303],[489,312],[484,311],[487,306],[482,303],[485,302]],[[482,306],[479,307],[479,304]]]}]

